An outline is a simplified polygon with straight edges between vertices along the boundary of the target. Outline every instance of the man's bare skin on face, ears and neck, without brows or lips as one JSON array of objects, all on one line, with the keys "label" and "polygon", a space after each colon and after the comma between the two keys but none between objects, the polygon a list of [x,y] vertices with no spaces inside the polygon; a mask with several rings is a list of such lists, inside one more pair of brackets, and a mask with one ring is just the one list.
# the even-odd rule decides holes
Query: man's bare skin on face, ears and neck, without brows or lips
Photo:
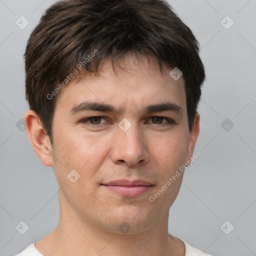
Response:
[{"label": "man's bare skin on face, ears and neck, without brows or lips", "polygon": [[[192,157],[199,133],[196,113],[188,130],[184,80],[174,80],[165,68],[162,75],[153,59],[127,56],[123,69],[113,71],[105,61],[98,76],[71,81],[61,90],[52,123],[53,145],[34,111],[25,114],[31,145],[46,166],[53,166],[59,185],[58,226],[35,243],[43,255],[184,256],[184,244],[168,233],[169,208],[182,181],[181,175],[154,201],[160,189],[183,163]],[[111,104],[122,113],[83,111],[69,114],[82,101]],[[145,114],[147,104],[172,102],[182,108]],[[104,116],[101,119],[82,119]],[[167,119],[174,123],[163,126]],[[118,127],[126,118],[127,131]],[[92,127],[88,124],[98,126]],[[75,169],[80,177],[68,178]],[[116,179],[144,179],[153,186],[144,194],[126,197],[100,184]],[[125,221],[129,230],[120,225]],[[171,220],[170,220],[171,221]]]}]

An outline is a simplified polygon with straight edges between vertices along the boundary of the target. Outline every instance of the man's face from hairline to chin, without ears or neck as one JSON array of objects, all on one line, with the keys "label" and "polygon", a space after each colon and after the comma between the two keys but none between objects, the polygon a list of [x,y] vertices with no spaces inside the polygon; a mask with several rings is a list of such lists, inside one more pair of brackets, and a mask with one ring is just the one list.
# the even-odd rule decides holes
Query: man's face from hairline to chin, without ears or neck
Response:
[{"label": "man's face from hairline to chin, without ears or neck", "polygon": [[[182,173],[153,202],[149,197],[189,159],[195,141],[189,140],[182,76],[174,80],[167,69],[161,75],[142,57],[139,66],[126,58],[125,69],[114,73],[104,62],[99,76],[86,76],[62,89],[51,152],[62,208],[114,232],[121,233],[125,221],[129,233],[136,233],[168,212]],[[116,112],[90,110],[86,102],[112,106]],[[78,106],[82,103],[83,109]],[[180,110],[166,105],[164,111],[162,106],[145,111],[148,105],[162,103],[176,104]],[[85,120],[89,117],[94,118]],[[129,183],[134,180],[137,183]]]}]

